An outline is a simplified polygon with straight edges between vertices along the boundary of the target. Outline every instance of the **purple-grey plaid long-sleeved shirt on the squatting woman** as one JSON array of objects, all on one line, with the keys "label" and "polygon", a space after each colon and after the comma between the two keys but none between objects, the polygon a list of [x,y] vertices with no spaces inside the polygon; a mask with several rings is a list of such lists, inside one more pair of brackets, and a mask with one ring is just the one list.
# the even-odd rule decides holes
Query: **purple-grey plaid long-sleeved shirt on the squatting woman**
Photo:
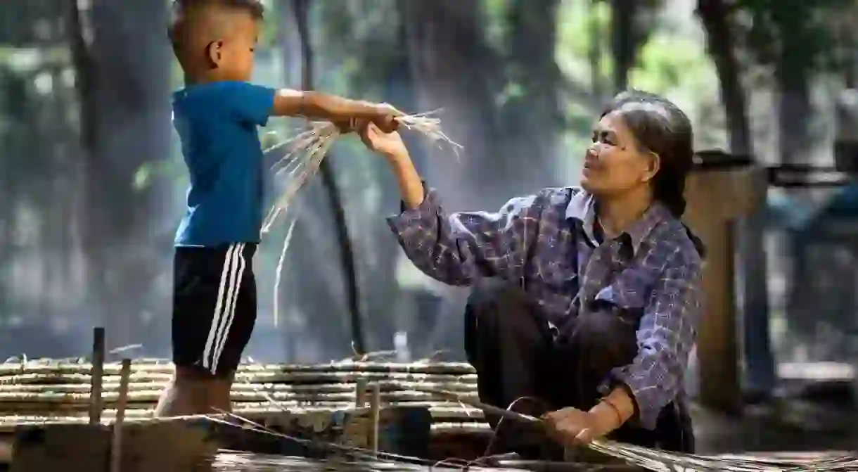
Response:
[{"label": "purple-grey plaid long-sleeved shirt on the squatting woman", "polygon": [[[684,396],[683,377],[701,312],[701,256],[686,227],[654,204],[625,233],[603,244],[594,235],[593,197],[577,188],[513,198],[498,213],[446,215],[427,188],[417,209],[390,217],[409,259],[450,285],[480,277],[521,281],[549,320],[593,309],[595,300],[642,310],[638,354],[613,369],[631,390],[641,427],[654,429],[669,402]],[[602,305],[604,306],[604,305]]]}]

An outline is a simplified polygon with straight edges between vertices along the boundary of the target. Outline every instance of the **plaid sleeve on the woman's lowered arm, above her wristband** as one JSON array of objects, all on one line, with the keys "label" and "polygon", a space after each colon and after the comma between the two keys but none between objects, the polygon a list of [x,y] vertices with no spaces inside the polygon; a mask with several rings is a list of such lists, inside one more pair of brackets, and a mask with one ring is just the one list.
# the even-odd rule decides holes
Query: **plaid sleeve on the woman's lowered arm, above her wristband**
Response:
[{"label": "plaid sleeve on the woman's lowered arm, above her wristband", "polygon": [[637,330],[637,356],[611,372],[611,383],[625,384],[641,427],[655,429],[662,408],[682,389],[688,355],[702,310],[702,263],[678,247],[662,270]]}]

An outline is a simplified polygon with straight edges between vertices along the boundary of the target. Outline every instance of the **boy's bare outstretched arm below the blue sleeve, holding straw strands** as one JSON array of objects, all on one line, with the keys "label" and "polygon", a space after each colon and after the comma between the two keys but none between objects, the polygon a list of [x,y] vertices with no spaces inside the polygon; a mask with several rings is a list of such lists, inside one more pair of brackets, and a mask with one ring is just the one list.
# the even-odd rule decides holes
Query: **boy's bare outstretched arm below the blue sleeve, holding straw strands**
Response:
[{"label": "boy's bare outstretched arm below the blue sleeve, holding straw strands", "polygon": [[394,118],[402,116],[393,106],[363,100],[349,100],[318,92],[282,88],[274,98],[275,116],[324,119],[335,123],[351,119],[372,121],[385,132],[396,130]]}]

